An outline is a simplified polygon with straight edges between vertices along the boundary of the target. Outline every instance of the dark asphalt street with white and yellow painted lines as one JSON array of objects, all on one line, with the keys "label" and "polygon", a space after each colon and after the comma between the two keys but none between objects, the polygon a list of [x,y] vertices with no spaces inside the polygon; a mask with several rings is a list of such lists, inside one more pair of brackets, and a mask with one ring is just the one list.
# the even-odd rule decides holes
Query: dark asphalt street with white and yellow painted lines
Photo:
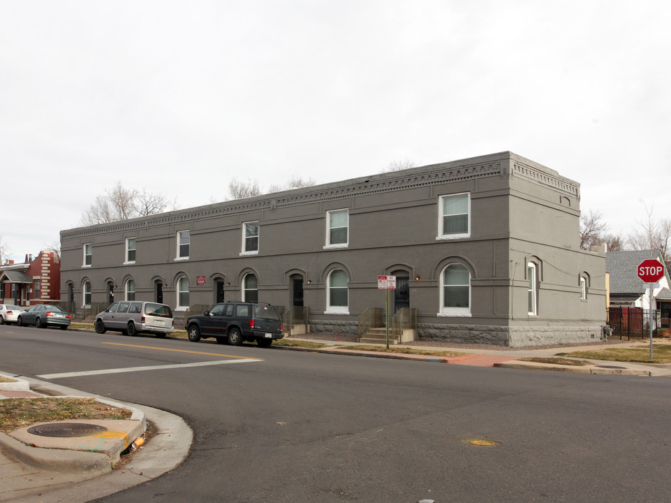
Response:
[{"label": "dark asphalt street with white and yellow painted lines", "polygon": [[184,464],[100,502],[660,502],[670,493],[668,378],[0,331],[1,369],[167,410],[193,428]]}]

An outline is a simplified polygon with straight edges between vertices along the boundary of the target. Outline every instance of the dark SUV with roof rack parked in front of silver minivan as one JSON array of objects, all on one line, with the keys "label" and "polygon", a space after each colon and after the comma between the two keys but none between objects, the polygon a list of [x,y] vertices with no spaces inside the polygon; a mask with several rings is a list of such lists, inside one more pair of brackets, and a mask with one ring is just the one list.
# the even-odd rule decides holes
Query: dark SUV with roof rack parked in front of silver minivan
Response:
[{"label": "dark SUV with roof rack parked in front of silver minivan", "polygon": [[281,339],[282,319],[270,304],[221,302],[202,314],[193,314],[184,323],[191,342],[214,337],[219,344],[239,346],[256,341],[259,347],[270,347]]}]

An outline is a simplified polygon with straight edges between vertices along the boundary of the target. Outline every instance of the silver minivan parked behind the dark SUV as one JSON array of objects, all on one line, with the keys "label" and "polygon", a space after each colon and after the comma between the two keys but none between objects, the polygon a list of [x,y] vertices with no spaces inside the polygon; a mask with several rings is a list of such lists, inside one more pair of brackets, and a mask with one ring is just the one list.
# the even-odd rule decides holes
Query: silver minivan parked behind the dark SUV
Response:
[{"label": "silver minivan parked behind the dark SUV", "polygon": [[115,302],[96,316],[96,332],[119,330],[124,335],[153,333],[165,337],[175,330],[170,306],[156,302]]}]

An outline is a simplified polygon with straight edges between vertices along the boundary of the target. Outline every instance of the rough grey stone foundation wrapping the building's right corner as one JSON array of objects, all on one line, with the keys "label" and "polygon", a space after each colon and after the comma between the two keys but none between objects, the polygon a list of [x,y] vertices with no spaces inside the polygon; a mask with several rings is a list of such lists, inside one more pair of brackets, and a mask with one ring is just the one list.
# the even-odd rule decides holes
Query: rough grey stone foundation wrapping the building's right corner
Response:
[{"label": "rough grey stone foundation wrapping the building's right corner", "polygon": [[507,327],[492,325],[435,325],[419,323],[418,340],[492,344],[521,347],[545,344],[598,342],[604,338],[602,326]]}]

